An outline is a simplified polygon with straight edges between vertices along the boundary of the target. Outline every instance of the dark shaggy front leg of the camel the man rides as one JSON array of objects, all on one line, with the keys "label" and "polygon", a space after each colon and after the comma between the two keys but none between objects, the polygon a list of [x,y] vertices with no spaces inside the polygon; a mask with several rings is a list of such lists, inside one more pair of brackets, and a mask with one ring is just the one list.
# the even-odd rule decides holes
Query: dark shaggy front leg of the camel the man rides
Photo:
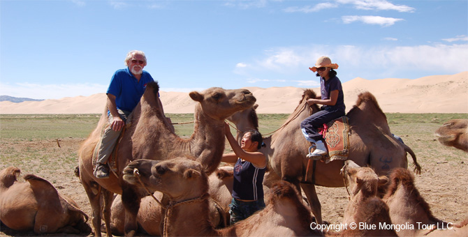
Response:
[{"label": "dark shaggy front leg of the camel the man rides", "polygon": [[136,217],[140,209],[141,197],[136,190],[125,185],[122,186],[122,204],[125,208],[125,236],[135,236],[138,229]]}]

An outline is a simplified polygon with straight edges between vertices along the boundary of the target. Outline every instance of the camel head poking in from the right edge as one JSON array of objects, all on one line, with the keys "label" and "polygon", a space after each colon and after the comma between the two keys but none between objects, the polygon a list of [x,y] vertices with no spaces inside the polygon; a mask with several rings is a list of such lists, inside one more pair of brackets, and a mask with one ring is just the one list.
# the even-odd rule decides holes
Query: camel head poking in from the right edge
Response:
[{"label": "camel head poking in from the right edge", "polygon": [[468,119],[452,119],[435,131],[439,142],[468,152]]}]

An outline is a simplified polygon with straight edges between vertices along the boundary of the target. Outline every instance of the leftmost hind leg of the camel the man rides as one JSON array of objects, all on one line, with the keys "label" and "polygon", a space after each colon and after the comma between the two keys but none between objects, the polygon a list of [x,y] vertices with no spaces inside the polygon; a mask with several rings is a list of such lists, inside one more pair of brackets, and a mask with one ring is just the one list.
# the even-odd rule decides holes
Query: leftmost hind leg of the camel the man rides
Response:
[{"label": "leftmost hind leg of the camel the man rides", "polygon": [[94,228],[94,236],[101,237],[101,185],[94,181],[82,181],[83,188],[85,188],[88,195],[89,204],[93,210],[91,217]]}]

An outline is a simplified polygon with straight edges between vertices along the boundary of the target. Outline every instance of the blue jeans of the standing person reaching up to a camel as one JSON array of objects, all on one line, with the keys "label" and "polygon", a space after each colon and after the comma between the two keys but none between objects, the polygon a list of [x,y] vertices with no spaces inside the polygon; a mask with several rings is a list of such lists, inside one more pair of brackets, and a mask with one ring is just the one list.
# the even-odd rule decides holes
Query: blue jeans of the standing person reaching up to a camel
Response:
[{"label": "blue jeans of the standing person reaching up to a camel", "polygon": [[247,217],[254,214],[256,211],[260,211],[265,208],[265,202],[263,199],[256,201],[240,201],[235,198],[229,204],[229,214],[231,215],[230,222],[234,224],[240,220],[245,220]]}]

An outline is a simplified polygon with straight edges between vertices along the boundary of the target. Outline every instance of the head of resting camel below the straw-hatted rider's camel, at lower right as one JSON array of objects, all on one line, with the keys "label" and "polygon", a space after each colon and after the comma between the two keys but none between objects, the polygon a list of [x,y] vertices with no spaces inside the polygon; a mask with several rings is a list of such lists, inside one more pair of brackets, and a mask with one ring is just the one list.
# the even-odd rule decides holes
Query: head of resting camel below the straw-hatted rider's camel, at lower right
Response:
[{"label": "head of resting camel below the straw-hatted rider's camel, at lower right", "polygon": [[349,185],[351,196],[355,197],[358,192],[365,196],[375,196],[380,185],[386,185],[386,176],[377,176],[374,170],[369,167],[359,167],[352,160],[346,160],[342,169],[345,185]]}]

